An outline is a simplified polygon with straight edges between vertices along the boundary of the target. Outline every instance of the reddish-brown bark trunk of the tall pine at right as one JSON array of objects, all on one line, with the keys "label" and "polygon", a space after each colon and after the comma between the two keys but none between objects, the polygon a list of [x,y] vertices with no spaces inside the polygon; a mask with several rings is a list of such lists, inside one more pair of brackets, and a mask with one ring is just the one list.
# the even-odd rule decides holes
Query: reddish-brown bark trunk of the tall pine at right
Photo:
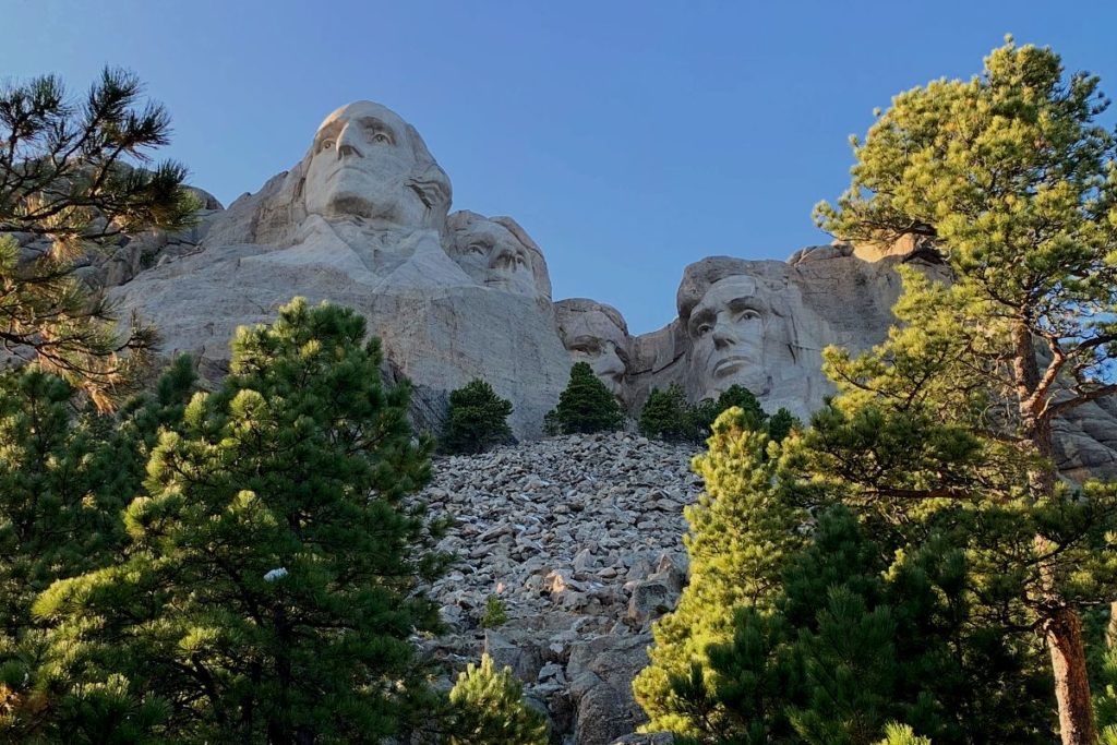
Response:
[{"label": "reddish-brown bark trunk of the tall pine at right", "polygon": [[[1039,416],[1047,401],[1025,403],[1040,382],[1031,329],[1028,325],[1020,324],[1014,329],[1013,337],[1016,347],[1013,367],[1023,433],[1044,460],[1028,474],[1031,498],[1038,502],[1054,496],[1059,474],[1054,467],[1051,424]],[[1046,536],[1035,536],[1038,554],[1050,553],[1051,548],[1051,542]],[[1051,672],[1054,677],[1056,701],[1059,705],[1059,735],[1062,745],[1096,745],[1098,733],[1094,723],[1094,700],[1090,697],[1086,648],[1078,613],[1063,602],[1050,567],[1040,566],[1040,582],[1043,599],[1038,610],[1043,636],[1051,650]]]}]

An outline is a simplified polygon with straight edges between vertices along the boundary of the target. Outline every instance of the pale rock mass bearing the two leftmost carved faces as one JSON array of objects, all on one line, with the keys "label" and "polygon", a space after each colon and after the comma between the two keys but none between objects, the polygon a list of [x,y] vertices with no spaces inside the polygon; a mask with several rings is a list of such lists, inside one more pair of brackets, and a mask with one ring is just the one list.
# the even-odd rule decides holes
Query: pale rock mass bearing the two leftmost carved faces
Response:
[{"label": "pale rock mass bearing the two leftmost carved faces", "polygon": [[168,352],[220,369],[236,326],[295,295],[360,311],[420,407],[486,379],[515,403],[518,437],[542,429],[569,356],[538,246],[510,218],[449,214],[450,180],[422,137],[371,102],[338,108],[290,171],[238,199],[197,251],[113,290],[154,322]]}]

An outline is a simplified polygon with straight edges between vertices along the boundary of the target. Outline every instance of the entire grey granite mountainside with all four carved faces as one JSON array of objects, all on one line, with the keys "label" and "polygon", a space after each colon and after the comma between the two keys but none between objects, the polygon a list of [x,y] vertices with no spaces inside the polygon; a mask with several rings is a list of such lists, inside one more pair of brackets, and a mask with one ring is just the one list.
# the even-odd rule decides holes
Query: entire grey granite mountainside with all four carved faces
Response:
[{"label": "entire grey granite mountainside with all four carved faces", "polygon": [[[413,126],[356,102],[257,193],[221,210],[199,192],[198,228],[141,237],[83,275],[118,285],[109,293],[125,317],[144,316],[166,352],[192,352],[216,372],[238,325],[271,321],[295,295],[352,306],[382,338],[389,372],[416,384],[417,421],[437,429],[447,392],[483,378],[513,402],[519,438],[541,434],[579,361],[633,416],[653,388],[678,383],[691,401],[744,385],[767,410],[806,417],[832,392],[821,351],[885,337],[895,267],[945,278],[934,250],[913,241],[814,246],[787,261],[710,257],[684,270],[676,319],[633,337],[608,305],[553,304],[543,250],[524,228],[451,213],[451,194]],[[1068,468],[1117,474],[1115,413],[1099,402],[1062,426]]]}]

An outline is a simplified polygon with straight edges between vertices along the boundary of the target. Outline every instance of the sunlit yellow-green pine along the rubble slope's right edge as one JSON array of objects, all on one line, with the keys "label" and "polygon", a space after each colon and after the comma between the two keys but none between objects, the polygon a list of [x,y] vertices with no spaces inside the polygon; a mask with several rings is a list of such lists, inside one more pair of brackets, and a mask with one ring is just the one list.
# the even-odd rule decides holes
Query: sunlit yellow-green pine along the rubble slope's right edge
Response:
[{"label": "sunlit yellow-green pine along the rubble slope's right edge", "polygon": [[632,684],[652,732],[699,734],[680,711],[672,680],[689,677],[696,663],[707,668],[707,648],[732,638],[738,606],[773,606],[781,572],[803,543],[798,528],[805,513],[775,487],[777,450],[751,424],[741,409],[724,412],[714,422],[709,451],[694,460],[706,490],[685,510],[690,582],[675,611],[652,627],[650,665]]}]

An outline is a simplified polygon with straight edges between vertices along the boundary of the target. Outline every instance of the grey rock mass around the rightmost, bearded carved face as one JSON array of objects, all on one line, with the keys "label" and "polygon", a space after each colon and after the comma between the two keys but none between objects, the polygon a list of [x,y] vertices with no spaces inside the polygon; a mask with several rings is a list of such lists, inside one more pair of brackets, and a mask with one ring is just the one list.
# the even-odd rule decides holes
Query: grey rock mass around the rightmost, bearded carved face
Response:
[{"label": "grey rock mass around the rightmost, bearded carved face", "polygon": [[629,399],[639,407],[651,389],[671,383],[691,401],[716,399],[737,384],[768,411],[809,416],[833,392],[821,372],[822,350],[862,350],[885,337],[900,260],[870,262],[843,247],[820,246],[786,262],[716,256],[691,264],[676,296],[676,321],[632,341]]}]

